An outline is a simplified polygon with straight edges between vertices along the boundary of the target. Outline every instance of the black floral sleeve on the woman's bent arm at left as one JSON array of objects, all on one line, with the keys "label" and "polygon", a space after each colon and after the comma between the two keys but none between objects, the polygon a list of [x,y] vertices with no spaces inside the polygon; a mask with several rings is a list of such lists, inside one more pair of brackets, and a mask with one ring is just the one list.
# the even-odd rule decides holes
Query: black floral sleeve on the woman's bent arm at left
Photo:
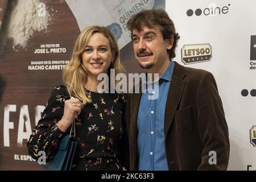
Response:
[{"label": "black floral sleeve on the woman's bent arm at left", "polygon": [[40,157],[38,152],[44,151],[48,162],[58,150],[64,133],[57,127],[57,122],[63,116],[64,102],[68,99],[65,86],[57,86],[52,90],[46,109],[43,111],[43,118],[39,120],[27,142],[28,153],[32,158],[38,159]]}]

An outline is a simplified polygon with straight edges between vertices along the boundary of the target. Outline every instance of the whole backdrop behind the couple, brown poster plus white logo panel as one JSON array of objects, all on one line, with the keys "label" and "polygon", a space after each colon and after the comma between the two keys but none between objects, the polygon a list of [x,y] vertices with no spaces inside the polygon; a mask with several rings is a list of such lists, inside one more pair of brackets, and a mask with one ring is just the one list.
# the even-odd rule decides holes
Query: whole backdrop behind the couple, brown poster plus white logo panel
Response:
[{"label": "whole backdrop behind the couple, brown poster plus white logo panel", "polygon": [[127,73],[143,72],[126,27],[143,9],[166,9],[181,36],[175,60],[216,78],[229,127],[228,169],[255,170],[254,7],[254,0],[1,0],[0,170],[42,170],[28,155],[27,139],[85,27],[108,27]]}]

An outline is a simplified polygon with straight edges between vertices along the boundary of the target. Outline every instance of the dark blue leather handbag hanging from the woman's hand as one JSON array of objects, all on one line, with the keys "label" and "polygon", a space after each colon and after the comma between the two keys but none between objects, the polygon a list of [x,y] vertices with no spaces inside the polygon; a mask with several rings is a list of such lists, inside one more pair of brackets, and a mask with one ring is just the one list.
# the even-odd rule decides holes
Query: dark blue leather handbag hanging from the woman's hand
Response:
[{"label": "dark blue leather handbag hanging from the woman's hand", "polygon": [[[72,130],[74,135],[71,135]],[[75,122],[72,123],[71,133],[61,139],[59,151],[45,167],[47,171],[71,171],[77,146]]]}]

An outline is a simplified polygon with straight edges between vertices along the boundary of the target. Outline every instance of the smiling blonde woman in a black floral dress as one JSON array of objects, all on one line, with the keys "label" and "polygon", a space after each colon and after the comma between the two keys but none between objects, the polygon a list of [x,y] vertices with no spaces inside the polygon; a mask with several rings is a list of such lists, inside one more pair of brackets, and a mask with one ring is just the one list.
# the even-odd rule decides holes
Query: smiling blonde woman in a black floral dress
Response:
[{"label": "smiling blonde woman in a black floral dress", "polygon": [[[126,95],[98,93],[100,73],[123,71],[119,49],[105,27],[92,26],[81,32],[72,59],[63,70],[64,85],[51,93],[43,118],[28,140],[28,152],[38,159],[45,151],[47,161],[56,154],[64,133],[76,122],[79,141],[72,170],[122,170],[128,168],[129,147],[124,113]],[[75,98],[71,98],[75,97]]]}]

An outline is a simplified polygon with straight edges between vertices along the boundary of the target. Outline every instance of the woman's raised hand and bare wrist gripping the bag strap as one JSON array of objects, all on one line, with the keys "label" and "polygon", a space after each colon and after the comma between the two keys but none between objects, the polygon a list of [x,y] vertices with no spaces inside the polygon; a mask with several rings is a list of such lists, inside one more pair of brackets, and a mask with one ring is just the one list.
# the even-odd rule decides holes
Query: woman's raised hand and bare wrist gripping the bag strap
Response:
[{"label": "woman's raised hand and bare wrist gripping the bag strap", "polygon": [[82,103],[79,99],[71,97],[70,100],[65,101],[64,114],[60,121],[57,123],[59,129],[65,132],[68,127],[73,123],[74,118],[81,113]]}]

